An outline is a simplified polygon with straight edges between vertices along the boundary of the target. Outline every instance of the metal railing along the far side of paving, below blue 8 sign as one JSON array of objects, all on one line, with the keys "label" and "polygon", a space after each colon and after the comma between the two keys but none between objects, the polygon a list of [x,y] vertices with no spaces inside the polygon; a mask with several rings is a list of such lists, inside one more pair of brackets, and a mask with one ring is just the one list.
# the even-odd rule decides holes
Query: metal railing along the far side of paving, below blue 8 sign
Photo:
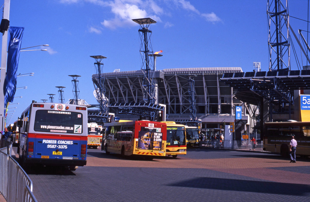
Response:
[{"label": "metal railing along the far side of paving, below blue 8 sign", "polygon": [[254,143],[250,140],[206,140],[201,141],[202,147],[213,147],[213,148],[229,148],[229,149],[242,149],[242,150],[257,150],[263,151],[263,142],[256,141]]}]

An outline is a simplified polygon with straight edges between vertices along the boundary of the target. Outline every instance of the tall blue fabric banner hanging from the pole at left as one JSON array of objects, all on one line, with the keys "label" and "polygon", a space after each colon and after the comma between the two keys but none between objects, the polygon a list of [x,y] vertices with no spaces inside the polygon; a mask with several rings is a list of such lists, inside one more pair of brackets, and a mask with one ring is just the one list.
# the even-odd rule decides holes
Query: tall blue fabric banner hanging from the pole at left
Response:
[{"label": "tall blue fabric banner hanging from the pole at left", "polygon": [[3,83],[4,107],[7,102],[13,102],[16,83],[20,45],[23,38],[23,27],[10,27],[9,48],[7,52],[7,74]]}]

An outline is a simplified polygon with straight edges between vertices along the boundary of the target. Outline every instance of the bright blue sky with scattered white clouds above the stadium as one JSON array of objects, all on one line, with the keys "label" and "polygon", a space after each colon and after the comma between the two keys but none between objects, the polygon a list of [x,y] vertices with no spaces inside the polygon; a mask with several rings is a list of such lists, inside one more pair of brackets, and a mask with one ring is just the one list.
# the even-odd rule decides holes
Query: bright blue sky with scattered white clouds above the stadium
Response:
[{"label": "bright blue sky with scattered white clouds above the stadium", "polygon": [[[282,0],[284,2],[284,0]],[[2,0],[3,3],[3,0]],[[308,18],[308,1],[290,0],[289,14]],[[95,104],[91,75],[103,55],[103,72],[139,70],[139,25],[131,19],[150,17],[153,51],[162,50],[157,69],[188,67],[241,67],[252,71],[253,62],[268,70],[268,20],[265,0],[46,0],[11,1],[10,26],[24,27],[22,48],[49,44],[48,51],[20,54],[11,121],[20,117],[32,100],[48,100],[64,86],[65,101],[73,98],[68,75],[79,77],[79,97]],[[307,30],[307,23],[290,18],[290,24]],[[306,34],[306,32],[304,32]],[[2,39],[1,39],[2,40]],[[296,44],[297,45],[297,44]],[[295,45],[295,46],[296,46]],[[41,47],[36,47],[41,49]],[[45,49],[46,47],[42,47]],[[35,49],[35,48],[34,48]],[[300,51],[299,51],[300,52]],[[291,69],[297,69],[292,64]]]}]

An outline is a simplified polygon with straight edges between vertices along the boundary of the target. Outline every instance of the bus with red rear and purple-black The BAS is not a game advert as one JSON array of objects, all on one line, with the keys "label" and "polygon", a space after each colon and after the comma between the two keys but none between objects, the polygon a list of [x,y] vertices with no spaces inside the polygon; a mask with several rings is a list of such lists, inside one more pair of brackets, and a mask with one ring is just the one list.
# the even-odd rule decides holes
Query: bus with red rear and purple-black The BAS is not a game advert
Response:
[{"label": "bus with red rear and purple-black The BAS is not a game advert", "polygon": [[118,121],[104,123],[101,150],[106,154],[140,155],[147,159],[166,155],[166,123],[153,121]]}]

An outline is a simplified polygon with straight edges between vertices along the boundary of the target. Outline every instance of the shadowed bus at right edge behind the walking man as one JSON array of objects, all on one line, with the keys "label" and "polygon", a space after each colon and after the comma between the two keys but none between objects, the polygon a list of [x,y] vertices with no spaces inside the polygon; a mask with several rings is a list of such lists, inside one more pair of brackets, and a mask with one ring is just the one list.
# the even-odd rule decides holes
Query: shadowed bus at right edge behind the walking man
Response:
[{"label": "shadowed bus at right edge behind the walking man", "polygon": [[310,156],[310,122],[267,122],[263,150],[288,156],[291,136],[297,141],[296,155]]}]

